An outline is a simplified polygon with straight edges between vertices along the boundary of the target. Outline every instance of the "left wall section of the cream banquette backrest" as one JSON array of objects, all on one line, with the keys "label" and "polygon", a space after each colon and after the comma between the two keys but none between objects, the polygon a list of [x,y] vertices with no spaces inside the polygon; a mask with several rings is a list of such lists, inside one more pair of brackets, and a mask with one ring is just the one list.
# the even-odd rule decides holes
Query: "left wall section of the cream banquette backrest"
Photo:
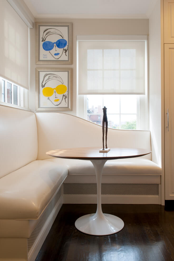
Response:
[{"label": "left wall section of the cream banquette backrest", "polygon": [[37,158],[35,113],[0,105],[0,178]]}]

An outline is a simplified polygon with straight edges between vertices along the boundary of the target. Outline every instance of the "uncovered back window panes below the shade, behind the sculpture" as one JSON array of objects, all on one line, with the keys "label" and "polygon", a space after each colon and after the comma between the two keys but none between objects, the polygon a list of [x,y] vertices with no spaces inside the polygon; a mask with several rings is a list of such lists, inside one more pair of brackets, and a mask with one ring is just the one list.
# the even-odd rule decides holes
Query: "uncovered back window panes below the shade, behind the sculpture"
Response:
[{"label": "uncovered back window panes below the shade, behind the sculpture", "polygon": [[86,101],[87,120],[102,125],[102,108],[106,105],[109,128],[139,128],[139,95],[87,95]]}]

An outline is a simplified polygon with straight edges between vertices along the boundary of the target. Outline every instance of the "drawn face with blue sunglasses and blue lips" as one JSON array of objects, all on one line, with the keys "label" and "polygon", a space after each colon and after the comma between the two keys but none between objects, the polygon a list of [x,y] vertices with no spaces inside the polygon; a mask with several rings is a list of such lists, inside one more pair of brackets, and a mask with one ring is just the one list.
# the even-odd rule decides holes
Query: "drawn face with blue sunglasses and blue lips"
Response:
[{"label": "drawn face with blue sunglasses and blue lips", "polygon": [[[43,31],[42,47],[45,51],[56,60],[58,60],[63,53],[67,53],[67,41],[63,34],[56,28],[47,28]],[[67,56],[67,55],[66,55]]]}]

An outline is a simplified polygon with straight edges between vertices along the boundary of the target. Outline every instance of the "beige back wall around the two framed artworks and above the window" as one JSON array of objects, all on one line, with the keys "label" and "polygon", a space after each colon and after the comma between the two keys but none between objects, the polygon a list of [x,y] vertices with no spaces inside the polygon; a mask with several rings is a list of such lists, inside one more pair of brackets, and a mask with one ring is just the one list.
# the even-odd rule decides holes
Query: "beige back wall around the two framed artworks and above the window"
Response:
[{"label": "beige back wall around the two framed artworks and above the window", "polygon": [[76,115],[76,35],[148,35],[148,19],[36,19],[36,22],[72,22],[72,65],[35,64],[35,28],[30,33],[29,108],[35,111],[35,67],[70,67],[72,79],[72,111]]}]

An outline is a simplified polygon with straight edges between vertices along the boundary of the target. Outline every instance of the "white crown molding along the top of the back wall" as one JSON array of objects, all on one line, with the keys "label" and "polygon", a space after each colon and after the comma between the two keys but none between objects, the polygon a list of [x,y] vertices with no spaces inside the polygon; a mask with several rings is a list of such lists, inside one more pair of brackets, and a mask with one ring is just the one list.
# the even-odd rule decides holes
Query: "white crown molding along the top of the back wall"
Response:
[{"label": "white crown molding along the top of the back wall", "polygon": [[36,14],[35,18],[148,19],[146,14]]}]

